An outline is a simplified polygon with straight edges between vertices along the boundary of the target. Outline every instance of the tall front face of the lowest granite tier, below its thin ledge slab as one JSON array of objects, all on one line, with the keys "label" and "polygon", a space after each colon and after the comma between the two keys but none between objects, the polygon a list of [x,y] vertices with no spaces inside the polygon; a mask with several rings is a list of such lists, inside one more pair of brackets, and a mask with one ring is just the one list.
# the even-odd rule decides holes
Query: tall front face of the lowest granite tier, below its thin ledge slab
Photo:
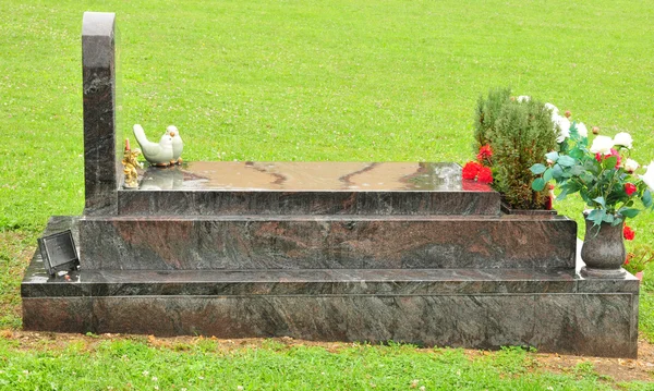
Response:
[{"label": "tall front face of the lowest granite tier, below its thin ledge slab", "polygon": [[[258,295],[27,298],[29,330],[292,337],[635,357],[633,294]],[[92,325],[80,319],[93,302]],[[69,303],[65,305],[64,303]]]}]

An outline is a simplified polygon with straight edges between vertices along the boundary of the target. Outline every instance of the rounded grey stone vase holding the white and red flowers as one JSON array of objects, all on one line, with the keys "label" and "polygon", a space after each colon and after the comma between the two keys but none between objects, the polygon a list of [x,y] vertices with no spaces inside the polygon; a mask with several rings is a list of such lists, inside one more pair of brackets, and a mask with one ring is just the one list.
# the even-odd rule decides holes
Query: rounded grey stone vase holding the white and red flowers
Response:
[{"label": "rounded grey stone vase holding the white and red flowers", "polygon": [[[588,213],[584,212],[584,218]],[[622,229],[625,222],[611,225],[602,222],[600,229],[590,220],[585,221],[585,237],[581,247],[581,259],[585,266],[581,276],[585,278],[616,278],[626,274],[622,264],[627,258]]]}]

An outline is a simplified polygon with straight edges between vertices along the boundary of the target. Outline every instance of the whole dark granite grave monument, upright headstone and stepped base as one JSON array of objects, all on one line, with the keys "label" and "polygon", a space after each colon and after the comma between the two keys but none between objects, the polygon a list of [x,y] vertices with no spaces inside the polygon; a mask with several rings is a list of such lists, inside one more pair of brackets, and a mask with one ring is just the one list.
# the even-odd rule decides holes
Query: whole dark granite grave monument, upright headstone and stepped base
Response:
[{"label": "whole dark granite grave monument, upright headstone and stepped base", "polygon": [[638,280],[580,277],[574,221],[506,216],[456,164],[193,162],[121,190],[113,14],[83,32],[86,207],[46,230],[80,235],[81,270],[35,254],[25,329],[637,355]]}]

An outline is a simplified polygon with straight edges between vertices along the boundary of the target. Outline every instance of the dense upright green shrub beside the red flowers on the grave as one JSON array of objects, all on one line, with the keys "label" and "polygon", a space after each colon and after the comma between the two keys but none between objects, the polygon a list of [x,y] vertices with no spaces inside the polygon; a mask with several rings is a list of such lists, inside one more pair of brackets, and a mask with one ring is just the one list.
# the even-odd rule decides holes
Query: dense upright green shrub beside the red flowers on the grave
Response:
[{"label": "dense upright green shrub beside the red flowers on the grave", "polygon": [[494,151],[494,188],[516,209],[544,208],[547,190],[532,190],[530,168],[544,163],[545,154],[556,148],[552,112],[534,99],[508,99],[485,132]]}]

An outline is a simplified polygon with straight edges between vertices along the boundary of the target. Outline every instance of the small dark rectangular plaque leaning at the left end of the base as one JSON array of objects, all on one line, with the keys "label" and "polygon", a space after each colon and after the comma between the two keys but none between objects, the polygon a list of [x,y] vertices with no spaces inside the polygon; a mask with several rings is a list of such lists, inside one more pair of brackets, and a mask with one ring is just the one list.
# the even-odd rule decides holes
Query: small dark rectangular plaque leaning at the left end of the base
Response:
[{"label": "small dark rectangular plaque leaning at the left end of the base", "polygon": [[71,230],[38,239],[44,267],[50,276],[58,271],[71,271],[80,266],[80,257]]}]

